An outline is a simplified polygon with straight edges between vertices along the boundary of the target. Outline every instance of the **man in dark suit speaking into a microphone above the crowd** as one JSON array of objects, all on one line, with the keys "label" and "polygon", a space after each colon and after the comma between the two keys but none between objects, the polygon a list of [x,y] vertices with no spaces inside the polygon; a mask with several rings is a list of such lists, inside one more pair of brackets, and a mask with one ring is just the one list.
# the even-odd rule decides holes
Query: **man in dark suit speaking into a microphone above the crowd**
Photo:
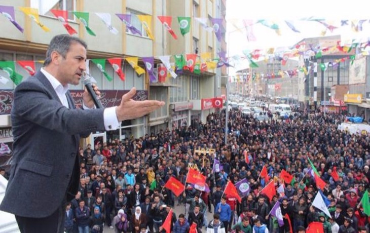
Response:
[{"label": "man in dark suit speaking into a microphone above the crowd", "polygon": [[[132,100],[133,88],[122,96],[119,106],[95,109],[85,90],[83,109],[77,109],[68,85],[80,84],[86,70],[86,50],[86,43],[78,37],[54,36],[44,67],[14,91],[13,163],[0,210],[15,215],[21,232],[62,232],[64,204],[79,188],[80,137],[116,130],[122,121],[164,105]],[[93,89],[99,96],[95,85]]]}]

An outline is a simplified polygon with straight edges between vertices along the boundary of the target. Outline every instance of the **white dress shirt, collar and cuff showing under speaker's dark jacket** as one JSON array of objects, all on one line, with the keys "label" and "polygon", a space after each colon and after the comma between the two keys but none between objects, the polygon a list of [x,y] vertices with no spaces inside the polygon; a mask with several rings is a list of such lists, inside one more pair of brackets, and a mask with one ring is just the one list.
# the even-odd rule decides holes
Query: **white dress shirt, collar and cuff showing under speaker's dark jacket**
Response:
[{"label": "white dress shirt, collar and cuff showing under speaker's dark jacket", "polygon": [[[66,93],[68,91],[68,85],[65,87],[57,80],[53,75],[51,75],[48,71],[44,68],[41,68],[41,72],[46,76],[49,80],[51,86],[54,88],[56,94],[59,97],[60,102],[66,107],[69,108],[68,100]],[[90,109],[85,104],[83,104],[84,109]],[[115,107],[107,107],[104,109],[104,128],[105,130],[117,130],[121,122],[118,122],[117,115],[116,115],[116,106]]]}]

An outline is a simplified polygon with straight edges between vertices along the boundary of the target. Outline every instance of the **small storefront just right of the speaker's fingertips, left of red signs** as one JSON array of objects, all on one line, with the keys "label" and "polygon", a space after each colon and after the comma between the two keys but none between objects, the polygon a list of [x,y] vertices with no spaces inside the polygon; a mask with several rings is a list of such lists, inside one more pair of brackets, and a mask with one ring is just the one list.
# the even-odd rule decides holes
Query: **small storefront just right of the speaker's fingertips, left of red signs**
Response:
[{"label": "small storefront just right of the speaker's fingertips, left of red signs", "polygon": [[173,103],[170,104],[170,109],[172,111],[170,130],[190,125],[190,110],[193,109],[192,102]]}]

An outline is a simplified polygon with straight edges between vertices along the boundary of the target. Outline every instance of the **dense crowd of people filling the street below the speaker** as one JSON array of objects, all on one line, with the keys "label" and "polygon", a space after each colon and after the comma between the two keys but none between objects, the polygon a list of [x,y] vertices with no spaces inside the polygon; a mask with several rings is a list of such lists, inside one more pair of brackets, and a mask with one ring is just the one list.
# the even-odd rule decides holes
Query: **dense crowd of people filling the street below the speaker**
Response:
[{"label": "dense crowd of people filling the street below the speaker", "polygon": [[[360,200],[369,188],[370,135],[338,131],[342,114],[302,110],[294,119],[259,122],[238,110],[229,113],[227,144],[221,111],[204,124],[81,149],[81,183],[65,207],[65,232],[103,232],[104,225],[115,232],[165,232],[162,225],[175,206],[183,211],[172,215],[174,233],[302,233],[312,222],[322,222],[324,233],[368,232],[370,218]],[[199,154],[199,148],[215,152]],[[308,158],[326,183],[322,193],[331,217],[312,206],[318,187]],[[212,169],[214,159],[220,172]],[[283,169],[294,177],[271,201],[261,194],[267,185],[263,167],[276,188],[284,183]],[[206,176],[209,190],[186,183],[189,168]],[[171,177],[185,185],[179,197],[164,187]],[[250,192],[239,203],[224,189],[244,178]],[[270,214],[276,202],[289,216],[283,226]]]}]

